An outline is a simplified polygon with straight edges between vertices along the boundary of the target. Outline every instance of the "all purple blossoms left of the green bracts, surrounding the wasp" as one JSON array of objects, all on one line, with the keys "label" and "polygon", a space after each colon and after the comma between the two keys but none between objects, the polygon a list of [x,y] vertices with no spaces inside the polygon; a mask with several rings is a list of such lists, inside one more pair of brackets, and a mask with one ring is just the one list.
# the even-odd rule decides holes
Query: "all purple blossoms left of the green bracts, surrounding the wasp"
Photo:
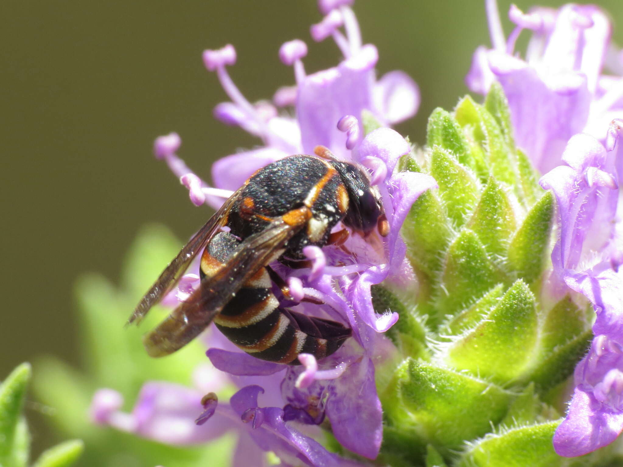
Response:
[{"label": "all purple blossoms left of the green bracts, surrounding the wasp", "polygon": [[[272,103],[250,103],[235,86],[226,68],[236,60],[232,45],[204,52],[207,70],[216,72],[231,98],[214,108],[214,116],[227,125],[240,126],[264,144],[217,161],[212,167],[214,187],[177,156],[181,144],[177,134],[156,139],[155,154],[188,188],[193,204],[212,207],[219,207],[224,197],[260,167],[290,154],[313,154],[316,146],[326,146],[343,161],[368,167],[371,183],[383,197],[389,236],[384,240],[351,236],[343,248],[307,247],[303,252],[312,262],[308,269],[274,266],[298,302],[290,308],[346,323],[353,329],[354,339],[320,364],[313,356],[302,354],[302,366],[286,367],[237,351],[214,329],[205,339],[210,347],[207,356],[214,367],[233,375],[241,388],[229,404],[217,403],[215,397],[202,400],[199,390],[153,382],[145,385],[131,414],[120,412],[120,395],[100,390],[92,403],[97,423],[178,445],[206,442],[235,430],[239,433],[236,453],[240,455],[235,456],[234,465],[250,465],[250,459],[258,465],[261,451],[272,451],[287,465],[301,461],[317,466],[350,465],[313,440],[319,435],[317,425],[326,419],[333,436],[346,449],[364,458],[378,456],[383,419],[375,365],[390,359],[394,352],[379,333],[389,329],[398,316],[374,311],[371,286],[385,280],[403,284],[414,280],[399,231],[413,202],[434,187],[435,181],[415,172],[394,173],[398,160],[411,146],[388,125],[414,115],[419,93],[403,72],[376,79],[378,52],[374,45],[362,43],[350,3],[320,1],[325,17],[311,28],[314,40],[335,40],[343,61],[307,75],[302,62],[307,45],[302,40],[286,42],[279,57],[293,66],[296,85],[277,90]],[[287,112],[292,107],[294,117]],[[182,278],[166,304],[188,297],[199,283],[196,272]],[[199,416],[202,405],[204,413]],[[294,422],[298,423],[292,425]]]}]

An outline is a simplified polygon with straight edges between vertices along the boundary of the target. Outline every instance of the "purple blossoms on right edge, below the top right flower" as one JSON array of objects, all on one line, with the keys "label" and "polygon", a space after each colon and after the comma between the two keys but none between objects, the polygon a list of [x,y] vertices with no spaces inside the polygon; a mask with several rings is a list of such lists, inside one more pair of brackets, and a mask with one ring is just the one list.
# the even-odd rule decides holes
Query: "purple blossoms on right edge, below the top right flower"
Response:
[{"label": "purple blossoms on right edge, below the top right flower", "polygon": [[587,134],[569,139],[566,165],[541,178],[556,196],[559,238],[552,252],[554,293],[569,289],[596,312],[594,340],[574,374],[566,419],[554,435],[562,456],[579,456],[614,441],[623,431],[623,274],[618,178],[614,168],[617,123],[606,148]]}]

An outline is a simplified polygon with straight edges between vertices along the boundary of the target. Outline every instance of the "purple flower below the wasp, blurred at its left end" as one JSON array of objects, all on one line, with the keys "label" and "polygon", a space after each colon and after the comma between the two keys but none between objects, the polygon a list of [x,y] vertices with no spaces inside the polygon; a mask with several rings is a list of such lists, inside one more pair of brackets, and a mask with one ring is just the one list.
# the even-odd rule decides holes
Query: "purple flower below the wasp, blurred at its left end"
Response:
[{"label": "purple flower below the wasp, blurred at its left end", "polygon": [[[93,397],[92,417],[96,423],[173,445],[206,443],[233,431],[238,436],[233,467],[267,465],[263,451],[275,453],[283,465],[361,466],[328,453],[313,438],[287,425],[281,408],[259,407],[262,393],[264,389],[250,385],[236,392],[229,404],[216,405],[211,403],[214,399],[202,404],[197,390],[151,382],[141,390],[134,410],[125,413],[120,411],[121,395],[101,389]],[[193,418],[206,405],[211,405],[211,413],[195,423]]]}]

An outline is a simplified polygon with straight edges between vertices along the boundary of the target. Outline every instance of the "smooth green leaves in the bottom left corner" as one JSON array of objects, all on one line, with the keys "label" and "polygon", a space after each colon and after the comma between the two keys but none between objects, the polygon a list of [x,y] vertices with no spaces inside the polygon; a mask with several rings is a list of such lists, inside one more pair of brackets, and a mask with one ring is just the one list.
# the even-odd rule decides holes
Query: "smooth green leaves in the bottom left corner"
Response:
[{"label": "smooth green leaves in the bottom left corner", "polygon": [[[0,384],[0,467],[29,465],[31,435],[22,415],[31,366],[21,364]],[[83,443],[65,441],[44,451],[33,467],[69,467],[80,457]]]}]

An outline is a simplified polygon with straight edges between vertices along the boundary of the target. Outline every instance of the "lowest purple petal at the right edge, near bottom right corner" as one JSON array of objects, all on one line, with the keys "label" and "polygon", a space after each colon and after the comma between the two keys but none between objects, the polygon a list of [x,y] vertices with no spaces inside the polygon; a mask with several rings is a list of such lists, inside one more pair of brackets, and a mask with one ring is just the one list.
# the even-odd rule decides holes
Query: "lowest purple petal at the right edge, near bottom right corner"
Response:
[{"label": "lowest purple petal at the right edge, near bottom right corner", "polygon": [[623,412],[604,410],[603,404],[591,392],[578,386],[567,418],[554,433],[554,449],[560,456],[582,456],[609,445],[622,430]]}]

